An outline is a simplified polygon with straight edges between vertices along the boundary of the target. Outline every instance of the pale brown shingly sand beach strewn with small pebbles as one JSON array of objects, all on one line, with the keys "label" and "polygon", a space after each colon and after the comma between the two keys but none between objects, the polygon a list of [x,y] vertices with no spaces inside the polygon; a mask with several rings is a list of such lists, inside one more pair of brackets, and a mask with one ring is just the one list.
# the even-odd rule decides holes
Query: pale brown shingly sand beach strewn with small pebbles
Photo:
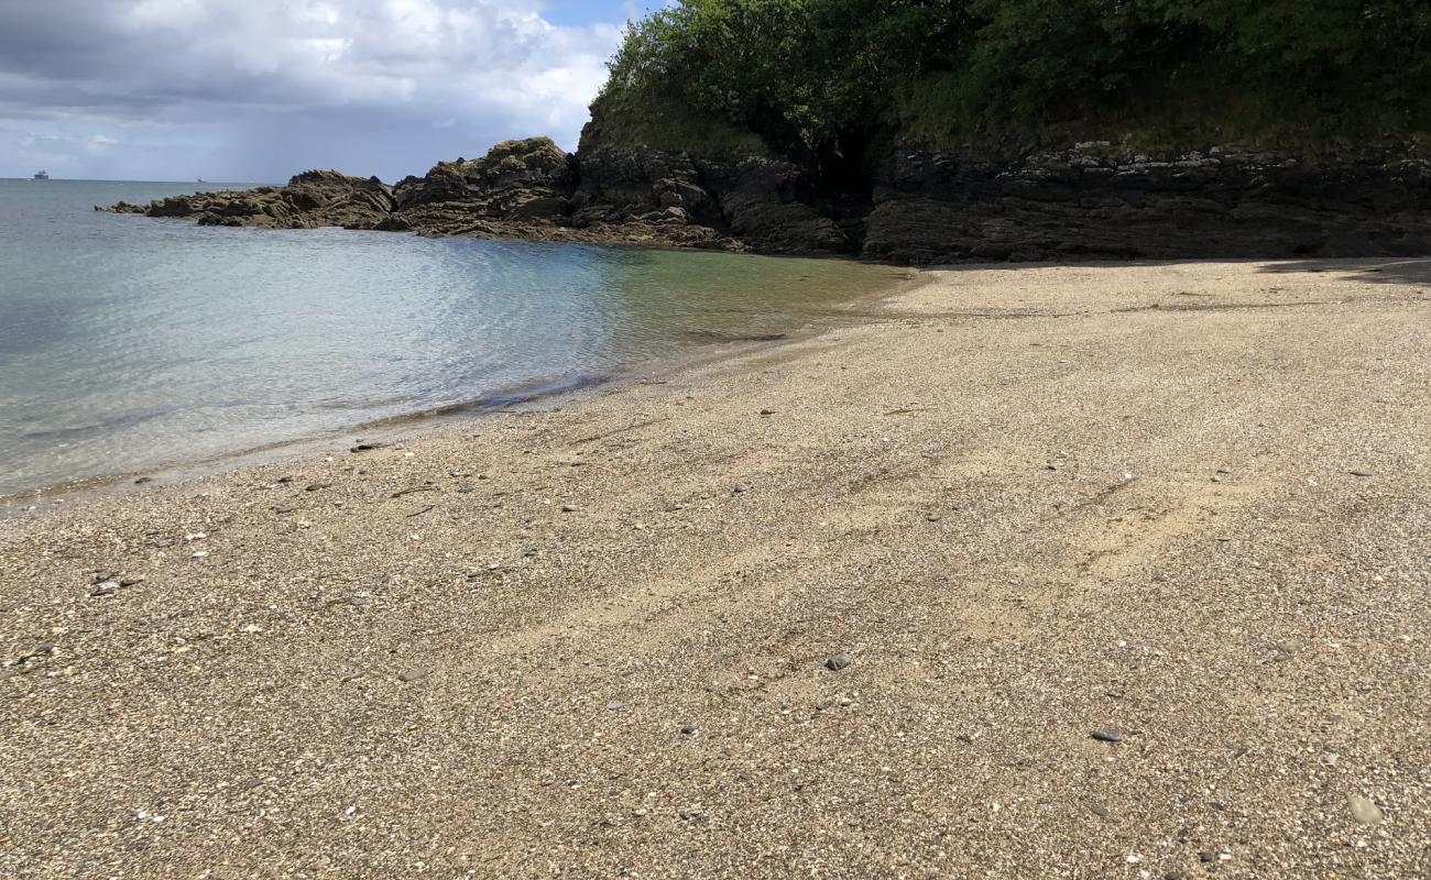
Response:
[{"label": "pale brown shingly sand beach strewn with small pebbles", "polygon": [[0,876],[1431,874],[1431,262],[723,353],[0,521]]}]

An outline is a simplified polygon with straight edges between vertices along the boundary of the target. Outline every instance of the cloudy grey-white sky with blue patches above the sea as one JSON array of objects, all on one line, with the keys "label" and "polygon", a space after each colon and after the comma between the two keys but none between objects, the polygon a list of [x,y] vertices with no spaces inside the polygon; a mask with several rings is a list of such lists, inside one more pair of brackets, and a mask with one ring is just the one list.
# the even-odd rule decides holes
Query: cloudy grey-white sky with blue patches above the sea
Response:
[{"label": "cloudy grey-white sky with blue patches above the sea", "polygon": [[398,180],[575,149],[658,0],[0,0],[0,177]]}]

